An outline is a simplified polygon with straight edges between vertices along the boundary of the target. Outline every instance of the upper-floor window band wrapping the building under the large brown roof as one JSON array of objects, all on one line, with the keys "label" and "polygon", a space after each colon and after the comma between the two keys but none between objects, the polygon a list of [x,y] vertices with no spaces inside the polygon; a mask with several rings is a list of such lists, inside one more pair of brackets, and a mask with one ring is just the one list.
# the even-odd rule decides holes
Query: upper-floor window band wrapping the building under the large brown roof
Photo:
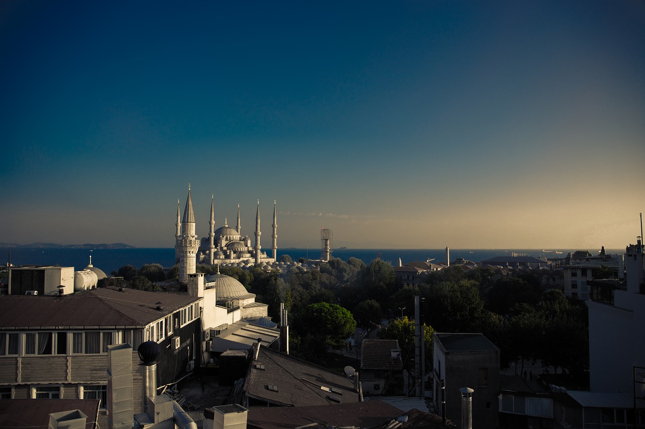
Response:
[{"label": "upper-floor window band wrapping the building under the large brown roof", "polygon": [[169,315],[143,330],[85,330],[0,332],[0,356],[48,356],[67,354],[104,354],[108,346],[129,343],[135,350],[143,341],[163,341],[174,329],[199,318],[199,303],[177,312],[175,323]]}]

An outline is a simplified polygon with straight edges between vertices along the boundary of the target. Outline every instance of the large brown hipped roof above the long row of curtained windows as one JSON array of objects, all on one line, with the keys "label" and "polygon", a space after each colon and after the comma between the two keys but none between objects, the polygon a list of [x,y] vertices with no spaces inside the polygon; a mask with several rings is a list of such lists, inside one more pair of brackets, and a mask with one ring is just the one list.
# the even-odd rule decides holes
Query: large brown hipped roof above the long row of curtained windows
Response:
[{"label": "large brown hipped roof above the long row of curtained windows", "polygon": [[0,298],[0,329],[144,327],[200,299],[116,287],[63,296],[7,295]]}]

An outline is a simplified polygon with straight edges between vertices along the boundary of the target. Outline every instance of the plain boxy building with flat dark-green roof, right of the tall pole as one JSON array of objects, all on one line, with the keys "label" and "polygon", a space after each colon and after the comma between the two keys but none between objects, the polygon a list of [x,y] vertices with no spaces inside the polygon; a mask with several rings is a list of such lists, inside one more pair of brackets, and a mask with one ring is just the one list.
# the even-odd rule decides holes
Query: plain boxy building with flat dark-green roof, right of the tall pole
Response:
[{"label": "plain boxy building with flat dark-green roof, right of the tall pole", "polygon": [[461,388],[471,388],[472,421],[477,428],[497,427],[499,418],[500,350],[482,334],[434,332],[434,392],[437,414],[442,412],[441,382],[445,385],[448,419],[461,421]]}]

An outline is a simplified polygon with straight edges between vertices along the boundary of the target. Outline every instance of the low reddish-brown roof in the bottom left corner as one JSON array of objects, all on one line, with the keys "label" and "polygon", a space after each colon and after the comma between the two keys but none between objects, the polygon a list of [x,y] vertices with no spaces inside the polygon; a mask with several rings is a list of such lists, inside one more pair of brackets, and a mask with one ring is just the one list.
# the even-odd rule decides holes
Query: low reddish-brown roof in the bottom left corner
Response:
[{"label": "low reddish-brown roof in the bottom left corner", "polygon": [[92,427],[99,415],[98,399],[1,399],[1,428],[46,428],[50,413],[80,410]]}]

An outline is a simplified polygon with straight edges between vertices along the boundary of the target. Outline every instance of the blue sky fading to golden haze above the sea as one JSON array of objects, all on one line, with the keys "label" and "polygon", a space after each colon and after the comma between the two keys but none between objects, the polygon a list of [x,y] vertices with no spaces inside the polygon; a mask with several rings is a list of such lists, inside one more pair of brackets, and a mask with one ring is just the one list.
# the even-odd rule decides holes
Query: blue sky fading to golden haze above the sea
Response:
[{"label": "blue sky fading to golden haze above the sea", "polygon": [[0,3],[0,242],[618,248],[642,1]]}]

